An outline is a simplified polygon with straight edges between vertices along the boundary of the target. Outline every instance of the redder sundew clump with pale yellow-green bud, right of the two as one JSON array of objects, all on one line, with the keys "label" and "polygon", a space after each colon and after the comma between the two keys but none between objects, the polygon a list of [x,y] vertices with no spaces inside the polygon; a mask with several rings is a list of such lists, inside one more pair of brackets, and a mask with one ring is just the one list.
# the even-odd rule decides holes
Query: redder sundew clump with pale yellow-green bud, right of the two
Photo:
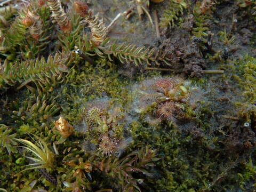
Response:
[{"label": "redder sundew clump with pale yellow-green bud, right of the two", "polygon": [[136,111],[149,124],[159,124],[163,120],[173,122],[185,110],[184,104],[189,97],[188,85],[180,77],[147,79],[142,82],[140,94],[134,101],[138,102]]}]

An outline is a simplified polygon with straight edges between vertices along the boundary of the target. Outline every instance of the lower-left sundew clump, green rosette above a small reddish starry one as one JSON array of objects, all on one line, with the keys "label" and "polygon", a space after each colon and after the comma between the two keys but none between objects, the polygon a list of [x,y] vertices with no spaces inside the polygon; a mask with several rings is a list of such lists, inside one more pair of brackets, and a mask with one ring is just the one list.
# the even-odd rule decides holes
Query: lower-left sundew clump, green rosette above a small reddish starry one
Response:
[{"label": "lower-left sundew clump, green rosette above a small reddish starry one", "polygon": [[111,108],[110,103],[92,102],[85,110],[85,121],[89,126],[87,135],[90,142],[97,146],[101,156],[112,156],[118,149],[124,149],[124,114],[119,107]]}]

